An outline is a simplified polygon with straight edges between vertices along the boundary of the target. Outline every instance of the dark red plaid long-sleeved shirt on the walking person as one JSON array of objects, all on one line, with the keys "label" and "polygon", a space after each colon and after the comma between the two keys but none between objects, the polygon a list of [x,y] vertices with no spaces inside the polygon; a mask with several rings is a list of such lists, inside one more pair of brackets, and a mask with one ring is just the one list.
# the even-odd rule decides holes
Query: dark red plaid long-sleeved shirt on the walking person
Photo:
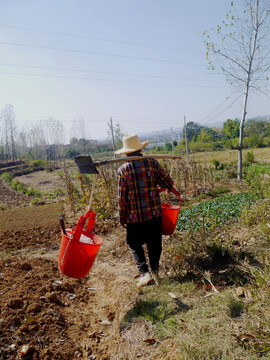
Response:
[{"label": "dark red plaid long-sleeved shirt on the walking person", "polygon": [[117,175],[122,225],[161,216],[158,185],[171,190],[173,180],[155,159],[127,161],[119,167]]}]

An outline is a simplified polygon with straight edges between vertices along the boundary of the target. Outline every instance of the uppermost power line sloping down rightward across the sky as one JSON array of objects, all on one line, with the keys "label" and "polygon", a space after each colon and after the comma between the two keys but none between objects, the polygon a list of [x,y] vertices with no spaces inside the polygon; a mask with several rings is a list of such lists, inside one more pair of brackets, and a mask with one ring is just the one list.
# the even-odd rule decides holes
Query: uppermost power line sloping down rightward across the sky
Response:
[{"label": "uppermost power line sloping down rightward across the sky", "polygon": [[140,43],[140,42],[137,43],[137,42],[131,42],[131,41],[113,40],[113,39],[106,39],[106,38],[100,38],[100,37],[88,36],[88,35],[76,35],[76,34],[70,34],[70,33],[31,29],[31,28],[25,28],[25,27],[1,25],[1,24],[0,24],[0,27],[14,29],[14,30],[31,31],[31,32],[37,32],[37,33],[42,33],[42,34],[50,34],[50,35],[74,37],[74,38],[80,38],[80,39],[104,41],[104,42],[123,44],[123,45],[142,46],[142,47],[153,48],[153,49],[171,50],[171,51],[177,51],[177,52],[188,52],[188,53],[193,53],[193,54],[204,54],[201,51],[195,51],[195,50],[172,48],[172,47],[159,46],[159,45],[153,45],[153,44],[145,44],[145,43]]}]

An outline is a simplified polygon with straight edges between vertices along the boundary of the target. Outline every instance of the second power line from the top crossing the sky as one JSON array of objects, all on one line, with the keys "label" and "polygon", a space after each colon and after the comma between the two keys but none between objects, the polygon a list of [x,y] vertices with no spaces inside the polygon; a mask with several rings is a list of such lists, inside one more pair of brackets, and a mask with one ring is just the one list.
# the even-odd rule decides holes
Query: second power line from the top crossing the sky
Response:
[{"label": "second power line from the top crossing the sky", "polygon": [[58,48],[58,47],[51,47],[51,46],[41,46],[41,45],[32,45],[32,44],[23,44],[23,43],[14,43],[8,41],[0,41],[0,44],[8,45],[8,46],[22,46],[22,47],[29,47],[35,49],[45,49],[45,50],[53,50],[53,51],[64,51],[64,52],[72,52],[78,54],[91,54],[91,55],[100,55],[100,56],[111,56],[123,59],[133,59],[133,60],[141,60],[141,61],[155,61],[161,63],[169,63],[169,64],[180,64],[180,65],[189,65],[189,66],[203,66],[203,64],[194,64],[194,63],[187,63],[182,61],[173,61],[173,60],[163,60],[157,58],[147,58],[147,57],[139,57],[139,56],[130,56],[130,55],[119,55],[119,54],[111,54],[111,53],[102,53],[97,51],[87,51],[87,50],[75,50],[75,49],[67,49],[67,48]]}]

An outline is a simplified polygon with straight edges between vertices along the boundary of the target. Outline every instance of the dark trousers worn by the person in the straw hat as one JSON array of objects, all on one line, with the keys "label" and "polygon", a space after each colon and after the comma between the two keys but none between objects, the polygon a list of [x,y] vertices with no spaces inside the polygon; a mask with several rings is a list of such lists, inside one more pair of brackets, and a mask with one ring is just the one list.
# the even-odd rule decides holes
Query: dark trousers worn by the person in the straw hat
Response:
[{"label": "dark trousers worn by the person in the straw hat", "polygon": [[150,267],[157,272],[162,251],[162,218],[154,218],[141,223],[127,224],[127,244],[141,274],[148,272],[148,265],[143,249],[147,245]]}]

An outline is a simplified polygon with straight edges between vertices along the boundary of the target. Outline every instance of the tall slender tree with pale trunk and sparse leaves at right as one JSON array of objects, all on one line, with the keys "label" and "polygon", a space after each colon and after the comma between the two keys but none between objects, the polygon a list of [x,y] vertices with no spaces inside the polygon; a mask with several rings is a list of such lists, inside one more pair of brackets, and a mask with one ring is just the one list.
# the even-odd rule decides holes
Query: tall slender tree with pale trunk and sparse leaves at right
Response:
[{"label": "tall slender tree with pale trunk and sparse leaves at right", "polygon": [[[250,90],[262,91],[260,84],[268,80],[270,69],[270,3],[269,0],[242,0],[239,6],[242,15],[231,10],[226,20],[216,29],[217,41],[206,36],[206,58],[210,68],[214,64],[224,72],[232,85],[238,85],[243,91],[243,108],[239,127],[238,180],[242,179],[243,134],[247,115]],[[234,7],[233,1],[231,6]],[[213,29],[214,30],[214,29]]]}]

